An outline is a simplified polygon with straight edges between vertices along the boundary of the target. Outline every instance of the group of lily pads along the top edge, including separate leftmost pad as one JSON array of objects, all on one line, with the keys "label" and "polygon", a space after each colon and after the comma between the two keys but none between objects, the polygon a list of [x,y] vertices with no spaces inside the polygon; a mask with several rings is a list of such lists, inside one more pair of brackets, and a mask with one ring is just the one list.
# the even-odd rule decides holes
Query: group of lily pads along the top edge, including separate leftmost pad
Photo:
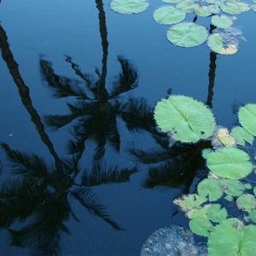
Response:
[{"label": "group of lily pads along the top edge, including separate leftmost pad", "polygon": [[[256,12],[256,0],[248,4],[242,0],[162,0],[168,5],[154,11],[154,20],[163,25],[173,25],[167,31],[167,39],[180,47],[195,47],[207,42],[212,51],[222,55],[232,55],[238,50],[237,36],[241,35],[234,27],[234,15],[252,9]],[[138,14],[148,9],[148,0],[112,0],[110,8],[119,14]],[[183,21],[188,14],[211,17],[214,30],[195,22]]]}]

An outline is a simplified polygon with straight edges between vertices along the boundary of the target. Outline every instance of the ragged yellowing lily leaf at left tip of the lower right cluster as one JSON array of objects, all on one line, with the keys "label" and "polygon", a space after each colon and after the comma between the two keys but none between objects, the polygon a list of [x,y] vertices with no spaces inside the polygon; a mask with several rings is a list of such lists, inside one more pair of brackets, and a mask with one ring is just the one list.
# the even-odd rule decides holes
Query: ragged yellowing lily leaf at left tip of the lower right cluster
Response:
[{"label": "ragged yellowing lily leaf at left tip of the lower right cluster", "polygon": [[207,199],[205,197],[196,194],[189,194],[183,195],[182,198],[175,199],[173,203],[181,207],[183,212],[188,212],[196,207],[200,207],[201,204],[206,201]]}]

